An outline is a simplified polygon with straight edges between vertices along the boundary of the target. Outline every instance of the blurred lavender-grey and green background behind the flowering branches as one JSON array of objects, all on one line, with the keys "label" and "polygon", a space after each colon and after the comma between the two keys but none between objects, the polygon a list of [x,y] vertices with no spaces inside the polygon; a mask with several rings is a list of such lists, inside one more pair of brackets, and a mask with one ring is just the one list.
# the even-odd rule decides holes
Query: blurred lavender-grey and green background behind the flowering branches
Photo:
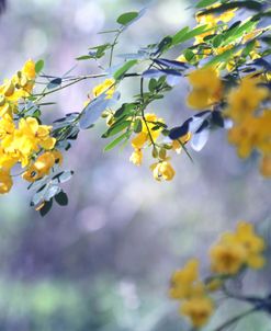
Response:
[{"label": "blurred lavender-grey and green background behind the flowering branches", "polygon": [[[194,1],[193,1],[194,2]],[[77,62],[88,47],[111,41],[99,31],[115,27],[125,11],[145,0],[8,0],[0,18],[0,78],[10,77],[29,58],[45,59],[47,75],[99,72],[93,61]],[[153,1],[116,49],[136,52],[185,25],[193,25],[191,2]],[[178,54],[176,54],[178,56]],[[117,64],[117,58],[115,62]],[[121,59],[120,59],[121,62]],[[56,106],[44,109],[45,121],[80,111],[97,81],[53,94]],[[138,91],[136,79],[121,87],[123,100]],[[168,123],[182,123],[189,87],[183,81],[165,101],[154,104]],[[173,270],[187,259],[202,261],[207,275],[208,247],[237,220],[269,229],[270,183],[258,173],[257,158],[241,161],[223,130],[214,133],[201,153],[173,158],[170,183],[156,182],[150,159],[136,168],[132,148],[104,153],[104,123],[80,134],[65,155],[75,170],[65,185],[68,207],[54,206],[44,218],[27,203],[26,184],[18,180],[0,197],[0,330],[4,331],[177,331],[188,330],[167,292]],[[238,290],[267,294],[270,267],[248,273]],[[221,303],[211,327],[244,309]],[[270,330],[266,315],[251,316],[236,330]]]}]

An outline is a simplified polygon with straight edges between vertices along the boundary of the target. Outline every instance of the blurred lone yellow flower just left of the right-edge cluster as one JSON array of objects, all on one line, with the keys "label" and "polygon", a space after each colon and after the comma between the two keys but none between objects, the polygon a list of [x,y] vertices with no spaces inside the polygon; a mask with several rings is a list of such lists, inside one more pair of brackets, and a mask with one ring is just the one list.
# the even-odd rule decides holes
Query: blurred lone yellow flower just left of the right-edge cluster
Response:
[{"label": "blurred lone yellow flower just left of the right-edge cluster", "polygon": [[188,105],[202,110],[218,102],[222,98],[222,81],[213,67],[197,69],[189,75],[193,91],[188,96]]}]

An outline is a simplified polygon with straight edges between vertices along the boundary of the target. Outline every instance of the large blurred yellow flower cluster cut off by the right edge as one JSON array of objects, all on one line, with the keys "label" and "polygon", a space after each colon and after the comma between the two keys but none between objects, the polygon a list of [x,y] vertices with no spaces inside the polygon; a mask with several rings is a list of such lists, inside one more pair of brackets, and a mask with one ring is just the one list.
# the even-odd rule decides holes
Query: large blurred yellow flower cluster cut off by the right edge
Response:
[{"label": "large blurred yellow flower cluster cut off by the right edge", "polygon": [[271,176],[271,110],[260,110],[270,98],[268,88],[260,85],[261,76],[247,76],[233,89],[228,96],[226,114],[234,126],[228,132],[228,140],[236,145],[239,157],[248,158],[253,149],[262,155],[260,166],[264,176]]}]

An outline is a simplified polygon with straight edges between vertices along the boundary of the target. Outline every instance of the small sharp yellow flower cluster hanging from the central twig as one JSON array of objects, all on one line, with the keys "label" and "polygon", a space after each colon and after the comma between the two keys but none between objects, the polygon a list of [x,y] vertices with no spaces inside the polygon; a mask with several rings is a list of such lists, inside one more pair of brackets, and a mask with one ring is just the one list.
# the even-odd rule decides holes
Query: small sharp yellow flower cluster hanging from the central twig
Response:
[{"label": "small sharp yellow flower cluster hanging from the central twig", "polygon": [[[138,119],[138,118],[136,118]],[[154,145],[153,157],[158,158],[158,161],[150,166],[154,179],[157,181],[171,181],[174,178],[174,169],[170,163],[170,158],[167,157],[167,150],[173,149],[180,153],[182,145],[187,144],[191,135],[188,134],[180,138],[180,141],[173,140],[171,144],[157,144],[157,139],[162,132],[162,126],[158,124],[165,123],[163,118],[158,118],[156,114],[145,114],[142,121],[142,130],[132,139],[132,147],[134,151],[129,158],[129,161],[135,166],[142,166],[143,163],[143,149],[146,146]]]}]

